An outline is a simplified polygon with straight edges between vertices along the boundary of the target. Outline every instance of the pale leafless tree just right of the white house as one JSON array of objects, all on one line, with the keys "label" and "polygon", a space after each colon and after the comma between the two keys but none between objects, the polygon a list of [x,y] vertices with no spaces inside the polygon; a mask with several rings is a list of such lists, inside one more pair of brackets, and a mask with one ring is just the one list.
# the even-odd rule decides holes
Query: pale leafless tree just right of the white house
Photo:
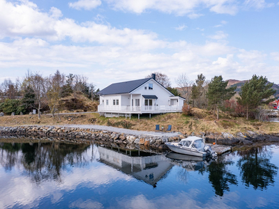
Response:
[{"label": "pale leafless tree just right of the white house", "polygon": [[179,86],[181,95],[186,98],[187,104],[190,102],[191,88],[193,86],[193,81],[190,81],[186,73],[182,73],[175,79],[176,84]]}]

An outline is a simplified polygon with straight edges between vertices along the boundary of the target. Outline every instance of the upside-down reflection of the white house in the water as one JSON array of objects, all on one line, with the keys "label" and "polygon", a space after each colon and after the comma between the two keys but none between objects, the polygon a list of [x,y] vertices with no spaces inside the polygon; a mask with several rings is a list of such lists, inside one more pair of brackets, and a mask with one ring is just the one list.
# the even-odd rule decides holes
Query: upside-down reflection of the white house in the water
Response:
[{"label": "upside-down reflection of the white house in the water", "polygon": [[121,150],[98,146],[100,162],[119,169],[138,180],[156,187],[174,164],[164,155],[145,153],[140,150]]}]

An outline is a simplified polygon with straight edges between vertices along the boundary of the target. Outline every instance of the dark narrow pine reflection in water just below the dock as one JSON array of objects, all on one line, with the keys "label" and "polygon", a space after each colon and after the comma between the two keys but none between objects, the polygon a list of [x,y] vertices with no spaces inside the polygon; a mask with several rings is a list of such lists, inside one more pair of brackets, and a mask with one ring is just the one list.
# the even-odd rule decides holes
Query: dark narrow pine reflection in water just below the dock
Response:
[{"label": "dark narrow pine reflection in water just below the dock", "polygon": [[232,164],[234,162],[225,160],[225,157],[220,156],[216,162],[212,162],[206,169],[209,172],[209,182],[218,196],[223,196],[225,190],[229,192],[229,184],[238,184],[236,175],[227,169],[227,166]]}]

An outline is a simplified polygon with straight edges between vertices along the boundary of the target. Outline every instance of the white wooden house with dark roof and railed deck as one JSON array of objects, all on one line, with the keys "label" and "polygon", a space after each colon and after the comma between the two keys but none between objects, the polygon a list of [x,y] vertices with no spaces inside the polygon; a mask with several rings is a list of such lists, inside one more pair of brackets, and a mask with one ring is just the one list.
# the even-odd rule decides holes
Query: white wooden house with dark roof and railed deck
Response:
[{"label": "white wooden house with dark roof and railed deck", "polygon": [[131,114],[161,114],[182,111],[184,98],[174,96],[151,78],[111,84],[99,91],[98,112],[104,116],[131,116]]}]

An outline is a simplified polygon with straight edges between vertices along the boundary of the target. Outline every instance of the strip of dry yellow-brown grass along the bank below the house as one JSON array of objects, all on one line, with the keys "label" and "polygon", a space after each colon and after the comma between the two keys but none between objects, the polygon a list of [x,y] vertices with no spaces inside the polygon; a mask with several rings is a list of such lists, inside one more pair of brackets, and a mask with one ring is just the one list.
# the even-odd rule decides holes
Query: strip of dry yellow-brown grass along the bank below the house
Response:
[{"label": "strip of dry yellow-brown grass along the bank below the house", "polygon": [[213,112],[202,109],[193,109],[193,116],[184,116],[179,113],[170,113],[163,115],[152,115],[151,118],[142,115],[140,120],[137,116],[131,119],[105,118],[99,114],[66,114],[55,116],[42,115],[40,120],[36,115],[24,116],[3,116],[0,117],[1,126],[15,125],[63,125],[63,124],[95,124],[95,125],[111,125],[114,127],[125,127],[132,130],[154,131],[155,125],[167,128],[172,125],[172,131],[182,133],[199,133],[199,132],[246,132],[247,130],[264,132],[266,134],[278,133],[279,123],[246,121],[245,118],[234,118],[226,114],[220,114],[220,119],[216,121]]}]

